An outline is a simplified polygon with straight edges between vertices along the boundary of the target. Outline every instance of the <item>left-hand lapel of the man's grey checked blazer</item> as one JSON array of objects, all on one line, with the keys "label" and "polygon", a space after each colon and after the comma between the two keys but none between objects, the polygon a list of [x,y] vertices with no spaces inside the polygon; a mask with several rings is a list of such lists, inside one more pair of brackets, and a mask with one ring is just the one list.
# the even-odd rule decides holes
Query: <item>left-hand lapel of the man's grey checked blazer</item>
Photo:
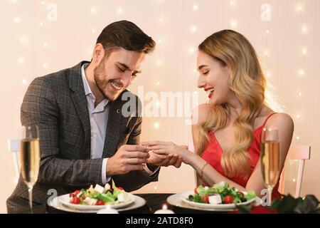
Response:
[{"label": "left-hand lapel of the man's grey checked blazer", "polygon": [[69,80],[70,89],[73,90],[71,95],[75,109],[77,110],[78,116],[82,123],[82,128],[85,131],[85,157],[90,158],[90,147],[91,147],[91,130],[90,130],[90,118],[89,111],[87,109],[87,98],[85,97],[85,88],[83,87],[81,66],[83,61],[77,66],[71,68],[71,75]]}]

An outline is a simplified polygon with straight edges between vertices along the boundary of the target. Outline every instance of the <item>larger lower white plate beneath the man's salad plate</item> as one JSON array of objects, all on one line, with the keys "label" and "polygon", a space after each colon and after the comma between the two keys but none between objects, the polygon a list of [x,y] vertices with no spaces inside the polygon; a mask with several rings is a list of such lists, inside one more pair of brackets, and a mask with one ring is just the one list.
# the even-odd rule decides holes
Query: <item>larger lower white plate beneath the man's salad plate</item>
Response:
[{"label": "larger lower white plate beneath the man's salad plate", "polygon": [[[60,201],[60,198],[64,195],[61,195],[59,197],[55,197],[48,202],[48,205],[50,207],[54,207],[55,209],[59,209],[65,212],[73,212],[73,213],[97,213],[99,209],[75,209],[71,207],[65,207]],[[126,207],[117,208],[118,212],[123,212],[131,209],[137,209],[139,207],[143,207],[144,204],[146,204],[146,200],[142,197],[138,197],[137,195],[132,195],[134,197],[134,202],[132,204],[127,205]]]}]

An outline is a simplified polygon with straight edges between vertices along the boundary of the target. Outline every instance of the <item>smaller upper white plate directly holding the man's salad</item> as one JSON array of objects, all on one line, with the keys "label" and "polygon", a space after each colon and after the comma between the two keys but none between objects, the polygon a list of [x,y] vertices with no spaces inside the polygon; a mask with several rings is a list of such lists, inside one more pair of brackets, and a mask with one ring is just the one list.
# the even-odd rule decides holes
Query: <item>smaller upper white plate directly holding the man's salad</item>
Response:
[{"label": "smaller upper white plate directly holding the man's salad", "polygon": [[[129,204],[132,204],[134,202],[134,195],[128,193],[130,201],[129,202],[121,202],[119,204],[110,204],[110,207],[112,209],[118,209],[122,207],[127,207]],[[81,205],[81,204],[72,204],[70,203],[70,196],[69,194],[61,195],[59,197],[59,200],[61,204],[63,204],[64,207],[68,207],[71,209],[78,209],[78,210],[100,210],[105,209],[105,205]]]}]

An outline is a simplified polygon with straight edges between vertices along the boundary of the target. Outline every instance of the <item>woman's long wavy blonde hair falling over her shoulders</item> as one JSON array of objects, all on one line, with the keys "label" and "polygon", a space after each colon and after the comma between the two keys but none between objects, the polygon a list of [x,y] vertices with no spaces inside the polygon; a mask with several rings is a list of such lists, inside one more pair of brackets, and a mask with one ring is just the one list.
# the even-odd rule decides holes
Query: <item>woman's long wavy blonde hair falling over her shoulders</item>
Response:
[{"label": "woman's long wavy blonde hair falling over her shoulders", "polygon": [[[250,155],[247,149],[253,140],[253,123],[265,103],[265,76],[262,73],[255,49],[242,34],[223,30],[213,33],[199,46],[208,56],[228,66],[228,87],[242,105],[242,112],[235,120],[235,145],[223,152],[221,165],[228,177],[248,177]],[[206,122],[196,126],[196,153],[201,155],[209,142],[208,133],[225,127],[230,110],[225,104],[210,106]]]}]

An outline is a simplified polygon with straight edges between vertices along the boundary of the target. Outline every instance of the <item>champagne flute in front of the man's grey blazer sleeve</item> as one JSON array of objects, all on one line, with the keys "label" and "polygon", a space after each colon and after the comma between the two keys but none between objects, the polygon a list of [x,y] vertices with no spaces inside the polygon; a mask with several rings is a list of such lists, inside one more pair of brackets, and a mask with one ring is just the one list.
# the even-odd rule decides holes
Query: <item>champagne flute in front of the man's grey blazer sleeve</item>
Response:
[{"label": "champagne flute in front of the man's grey blazer sleeve", "polygon": [[28,187],[31,213],[33,213],[32,189],[38,180],[39,167],[40,147],[38,126],[23,126],[21,139],[21,177]]}]

